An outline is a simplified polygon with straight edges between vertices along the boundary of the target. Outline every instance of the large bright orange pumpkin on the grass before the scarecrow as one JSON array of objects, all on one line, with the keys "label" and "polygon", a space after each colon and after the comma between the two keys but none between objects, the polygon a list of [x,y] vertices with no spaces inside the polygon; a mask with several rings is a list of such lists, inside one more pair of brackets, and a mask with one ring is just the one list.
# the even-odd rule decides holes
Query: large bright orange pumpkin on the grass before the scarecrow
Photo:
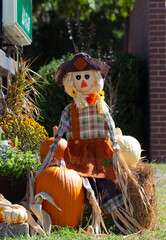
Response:
[{"label": "large bright orange pumpkin on the grass before the scarecrow", "polygon": [[37,176],[35,194],[39,192],[48,193],[62,210],[46,200],[43,201],[43,209],[50,215],[53,225],[79,225],[85,198],[82,179],[76,171],[65,167],[63,159],[60,159],[58,167],[48,167]]}]

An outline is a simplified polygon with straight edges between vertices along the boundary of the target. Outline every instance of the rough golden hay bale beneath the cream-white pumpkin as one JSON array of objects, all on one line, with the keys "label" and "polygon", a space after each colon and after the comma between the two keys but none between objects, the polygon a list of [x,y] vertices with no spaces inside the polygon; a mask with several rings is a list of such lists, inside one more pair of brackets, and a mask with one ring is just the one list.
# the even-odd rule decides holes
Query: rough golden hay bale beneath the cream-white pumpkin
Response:
[{"label": "rough golden hay bale beneath the cream-white pumpkin", "polygon": [[129,179],[128,194],[133,206],[134,218],[142,227],[152,229],[155,226],[157,215],[154,172],[150,164],[140,164],[136,168],[131,169],[131,171],[140,186],[144,189],[147,200],[150,203],[146,208],[139,197],[138,190],[135,188],[133,181]]}]

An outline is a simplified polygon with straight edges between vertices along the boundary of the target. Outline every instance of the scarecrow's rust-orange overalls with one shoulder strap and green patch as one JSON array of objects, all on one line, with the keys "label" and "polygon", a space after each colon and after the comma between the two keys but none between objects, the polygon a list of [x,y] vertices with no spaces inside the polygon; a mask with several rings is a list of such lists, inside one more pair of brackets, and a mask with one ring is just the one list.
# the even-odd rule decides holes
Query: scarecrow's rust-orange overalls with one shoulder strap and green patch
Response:
[{"label": "scarecrow's rust-orange overalls with one shoulder strap and green patch", "polygon": [[113,148],[109,138],[80,139],[79,112],[72,103],[72,131],[74,140],[68,140],[64,159],[67,168],[80,176],[115,180]]}]

